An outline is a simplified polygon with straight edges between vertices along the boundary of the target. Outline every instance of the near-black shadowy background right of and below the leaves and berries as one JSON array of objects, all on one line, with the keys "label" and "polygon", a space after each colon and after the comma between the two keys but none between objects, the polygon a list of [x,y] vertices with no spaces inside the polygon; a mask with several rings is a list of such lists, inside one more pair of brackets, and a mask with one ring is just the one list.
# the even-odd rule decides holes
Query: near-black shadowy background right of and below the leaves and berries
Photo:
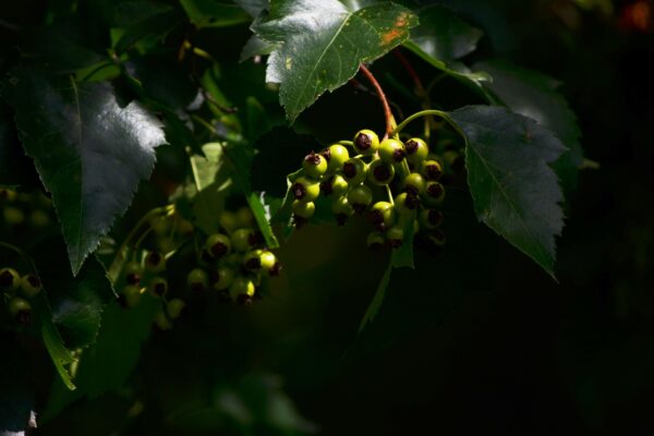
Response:
[{"label": "near-black shadowy background right of and below the leaves and berries", "polygon": [[[475,58],[562,83],[585,156],[600,165],[580,172],[568,202],[559,282],[476,225],[453,193],[445,253],[393,275],[356,337],[386,259],[367,254],[356,223],[308,227],[282,250],[289,272],[275,298],[154,335],[132,379],[145,413],[125,424],[128,401],[107,395],[39,433],[210,434],[220,427],[209,417],[175,411],[257,374],[283,380],[325,435],[654,432],[654,5],[639,1],[634,19],[632,1],[449,3],[486,33]],[[300,125],[335,140],[379,123],[376,109],[356,106],[370,96],[339,93]]]}]

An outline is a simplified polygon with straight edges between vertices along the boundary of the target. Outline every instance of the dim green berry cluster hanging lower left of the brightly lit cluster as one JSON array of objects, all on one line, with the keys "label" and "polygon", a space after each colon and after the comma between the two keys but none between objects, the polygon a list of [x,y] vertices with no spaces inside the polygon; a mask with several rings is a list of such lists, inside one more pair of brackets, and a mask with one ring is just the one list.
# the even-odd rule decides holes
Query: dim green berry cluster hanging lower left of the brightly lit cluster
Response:
[{"label": "dim green berry cluster hanging lower left of the brightly lit cluster", "polygon": [[[165,216],[149,220],[164,228]],[[168,217],[168,219],[175,219]],[[160,249],[134,251],[132,261],[123,265],[118,288],[120,301],[125,307],[140,304],[144,294],[160,299],[161,311],[155,317],[160,329],[169,329],[172,322],[179,318],[191,295],[199,292],[216,291],[221,301],[237,301],[250,304],[255,296],[261,296],[259,284],[265,277],[278,276],[281,264],[264,246],[264,238],[255,230],[255,220],[247,207],[235,211],[223,210],[218,219],[218,231],[205,234],[194,229],[190,222],[184,228],[190,230],[193,242],[193,256],[184,262],[185,284],[171,287],[174,280],[169,274],[169,259],[175,255],[179,241],[169,246],[169,251]],[[165,234],[165,233],[160,233]],[[183,244],[183,243],[182,243]],[[157,244],[160,245],[160,244]],[[140,256],[137,261],[134,257]],[[177,265],[179,267],[179,265]]]}]

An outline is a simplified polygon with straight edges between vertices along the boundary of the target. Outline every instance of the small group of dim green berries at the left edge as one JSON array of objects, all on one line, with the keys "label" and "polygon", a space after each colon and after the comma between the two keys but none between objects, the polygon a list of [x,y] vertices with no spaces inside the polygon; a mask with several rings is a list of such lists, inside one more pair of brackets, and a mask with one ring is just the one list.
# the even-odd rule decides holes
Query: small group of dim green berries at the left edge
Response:
[{"label": "small group of dim green berries at the left edge", "polygon": [[21,276],[14,268],[4,267],[0,269],[0,293],[9,315],[16,323],[25,325],[32,320],[31,299],[41,291],[40,279],[34,274]]}]

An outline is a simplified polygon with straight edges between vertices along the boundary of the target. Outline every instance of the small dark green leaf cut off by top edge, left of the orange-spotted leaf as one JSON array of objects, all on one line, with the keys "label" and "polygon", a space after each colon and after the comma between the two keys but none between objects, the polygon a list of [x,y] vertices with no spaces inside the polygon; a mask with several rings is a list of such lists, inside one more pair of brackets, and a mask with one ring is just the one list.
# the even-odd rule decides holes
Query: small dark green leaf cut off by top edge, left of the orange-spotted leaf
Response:
[{"label": "small dark green leaf cut off by top edge, left of the orange-spotted leaf", "polygon": [[229,27],[250,23],[250,15],[233,3],[218,0],[180,0],[186,15],[198,28]]}]

